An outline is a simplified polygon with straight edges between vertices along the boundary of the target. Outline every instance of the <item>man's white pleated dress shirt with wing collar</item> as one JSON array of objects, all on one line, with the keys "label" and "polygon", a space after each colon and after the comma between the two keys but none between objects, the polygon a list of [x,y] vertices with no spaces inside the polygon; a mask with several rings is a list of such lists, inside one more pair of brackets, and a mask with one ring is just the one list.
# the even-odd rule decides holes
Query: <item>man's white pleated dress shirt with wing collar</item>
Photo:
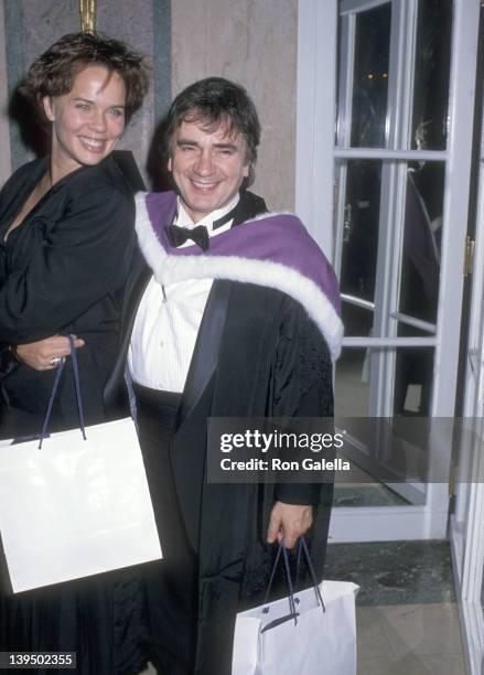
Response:
[{"label": "man's white pleated dress shirt with wing collar", "polygon": [[[232,226],[232,219],[213,229],[213,223],[237,205],[239,195],[193,223],[179,200],[176,225],[193,228],[205,225],[208,236],[217,236]],[[185,246],[193,246],[189,239]],[[135,320],[128,351],[128,366],[133,382],[165,392],[182,393],[205,311],[212,279],[189,279],[162,288],[151,277]],[[164,290],[164,293],[163,293]]]}]

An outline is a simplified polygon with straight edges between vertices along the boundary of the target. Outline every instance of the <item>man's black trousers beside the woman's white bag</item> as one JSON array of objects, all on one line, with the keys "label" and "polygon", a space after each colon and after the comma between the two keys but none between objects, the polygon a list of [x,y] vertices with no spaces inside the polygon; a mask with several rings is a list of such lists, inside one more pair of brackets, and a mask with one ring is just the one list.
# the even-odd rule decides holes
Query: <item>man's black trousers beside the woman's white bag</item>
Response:
[{"label": "man's black trousers beside the woman's white bag", "polygon": [[176,496],[170,460],[181,395],[135,385],[138,426],[163,559],[146,566],[152,660],[160,675],[193,673],[197,559]]}]

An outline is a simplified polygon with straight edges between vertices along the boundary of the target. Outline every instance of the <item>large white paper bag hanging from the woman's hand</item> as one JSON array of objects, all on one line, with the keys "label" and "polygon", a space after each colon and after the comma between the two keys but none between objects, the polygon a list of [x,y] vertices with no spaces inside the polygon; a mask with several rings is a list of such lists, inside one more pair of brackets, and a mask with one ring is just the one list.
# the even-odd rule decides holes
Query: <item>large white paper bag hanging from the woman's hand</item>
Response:
[{"label": "large white paper bag hanging from the woman's hand", "polygon": [[0,442],[0,534],[14,592],[162,557],[131,418]]}]

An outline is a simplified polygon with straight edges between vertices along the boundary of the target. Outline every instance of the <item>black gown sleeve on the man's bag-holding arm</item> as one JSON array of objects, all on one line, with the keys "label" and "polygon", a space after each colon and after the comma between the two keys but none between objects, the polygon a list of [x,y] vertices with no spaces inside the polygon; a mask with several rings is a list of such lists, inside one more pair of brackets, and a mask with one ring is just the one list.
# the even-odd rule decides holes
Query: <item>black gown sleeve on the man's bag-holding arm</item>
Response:
[{"label": "black gown sleeve on the man's bag-holding arm", "polygon": [[[327,344],[305,310],[288,298],[275,371],[273,417],[333,417],[333,369]],[[287,504],[321,502],[321,484],[279,483]]]}]

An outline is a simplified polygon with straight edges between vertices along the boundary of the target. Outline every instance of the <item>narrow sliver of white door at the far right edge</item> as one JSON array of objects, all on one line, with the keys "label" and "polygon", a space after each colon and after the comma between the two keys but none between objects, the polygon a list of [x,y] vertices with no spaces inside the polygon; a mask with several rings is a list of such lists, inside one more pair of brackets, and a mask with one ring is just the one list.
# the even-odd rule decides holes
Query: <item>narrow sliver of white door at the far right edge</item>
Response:
[{"label": "narrow sliver of white door at the far right edge", "polygon": [[[484,8],[481,8],[480,54],[477,63],[475,158],[475,250],[471,283],[471,308],[466,344],[463,424],[456,452],[455,504],[450,518],[450,538],[454,578],[461,611],[461,624],[469,673],[480,675],[484,664]],[[475,435],[469,433],[469,429]]]}]

